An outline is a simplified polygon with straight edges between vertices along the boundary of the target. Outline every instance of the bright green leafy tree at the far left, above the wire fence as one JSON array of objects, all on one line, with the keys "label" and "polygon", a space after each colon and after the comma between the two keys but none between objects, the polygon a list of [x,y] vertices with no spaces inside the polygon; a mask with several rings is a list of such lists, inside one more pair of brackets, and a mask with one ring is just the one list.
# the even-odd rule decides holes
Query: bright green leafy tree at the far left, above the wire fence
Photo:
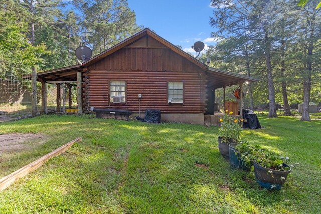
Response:
[{"label": "bright green leafy tree at the far left, above the wire fence", "polygon": [[1,0],[0,11],[0,69],[9,71],[12,67],[29,69],[42,65],[41,55],[46,53],[46,47],[41,44],[32,46],[26,35],[28,24],[23,16],[24,11],[11,0]]}]

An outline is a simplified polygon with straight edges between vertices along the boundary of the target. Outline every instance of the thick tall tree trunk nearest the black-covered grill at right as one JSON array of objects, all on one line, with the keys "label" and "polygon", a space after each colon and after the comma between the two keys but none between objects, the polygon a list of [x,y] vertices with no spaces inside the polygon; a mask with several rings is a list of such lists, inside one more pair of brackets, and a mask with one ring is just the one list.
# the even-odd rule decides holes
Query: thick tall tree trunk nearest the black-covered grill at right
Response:
[{"label": "thick tall tree trunk nearest the black-covered grill at right", "polygon": [[265,42],[266,68],[267,68],[267,86],[269,89],[269,114],[267,116],[277,117],[276,106],[275,106],[275,96],[274,96],[272,65],[271,65],[271,43],[268,36],[269,36],[268,32],[265,29],[264,42]]}]

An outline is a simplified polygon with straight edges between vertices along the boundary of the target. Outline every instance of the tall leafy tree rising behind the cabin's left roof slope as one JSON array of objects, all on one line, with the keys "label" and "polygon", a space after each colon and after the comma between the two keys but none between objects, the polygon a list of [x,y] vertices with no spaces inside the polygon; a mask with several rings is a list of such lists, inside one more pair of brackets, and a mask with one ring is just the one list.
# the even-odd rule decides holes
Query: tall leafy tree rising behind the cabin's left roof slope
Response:
[{"label": "tall leafy tree rising behind the cabin's left roof slope", "polygon": [[135,13],[126,0],[73,0],[80,12],[83,43],[98,54],[138,32]]}]

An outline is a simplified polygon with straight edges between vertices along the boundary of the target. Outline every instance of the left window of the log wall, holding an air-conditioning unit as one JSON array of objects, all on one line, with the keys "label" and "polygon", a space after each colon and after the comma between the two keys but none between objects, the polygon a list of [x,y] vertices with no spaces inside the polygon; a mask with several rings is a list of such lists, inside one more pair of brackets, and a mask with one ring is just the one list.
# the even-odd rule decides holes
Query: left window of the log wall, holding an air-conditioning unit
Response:
[{"label": "left window of the log wall, holding an air-conditioning unit", "polygon": [[111,103],[126,102],[126,81],[110,81],[109,91]]}]

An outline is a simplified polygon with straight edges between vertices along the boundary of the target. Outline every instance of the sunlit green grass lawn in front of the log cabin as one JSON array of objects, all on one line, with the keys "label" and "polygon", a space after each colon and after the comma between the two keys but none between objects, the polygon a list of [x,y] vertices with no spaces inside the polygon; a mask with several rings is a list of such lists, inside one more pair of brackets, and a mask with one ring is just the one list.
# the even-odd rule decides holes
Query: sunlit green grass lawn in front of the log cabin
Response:
[{"label": "sunlit green grass lawn in front of the log cabin", "polygon": [[242,139],[291,158],[279,191],[229,166],[218,150],[218,127],[94,115],[2,123],[0,134],[48,138],[0,156],[0,176],[76,137],[83,141],[0,192],[0,213],[321,213],[321,120],[259,120],[264,129],[244,130]]}]

